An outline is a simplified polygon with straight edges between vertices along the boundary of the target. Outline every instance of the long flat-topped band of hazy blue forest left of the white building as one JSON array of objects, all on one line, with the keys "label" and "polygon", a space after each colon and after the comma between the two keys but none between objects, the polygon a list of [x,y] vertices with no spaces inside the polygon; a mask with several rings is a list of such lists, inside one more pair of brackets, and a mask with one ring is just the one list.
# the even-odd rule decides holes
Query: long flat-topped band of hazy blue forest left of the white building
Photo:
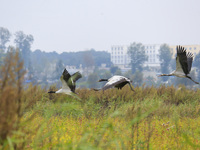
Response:
[{"label": "long flat-topped band of hazy blue forest left of the white building", "polygon": [[61,60],[64,65],[80,67],[101,66],[106,64],[107,67],[111,66],[110,53],[105,51],[95,51],[94,49],[79,52],[63,52],[61,54],[54,52],[42,52],[35,50],[31,53],[31,61],[35,65],[48,64]]}]

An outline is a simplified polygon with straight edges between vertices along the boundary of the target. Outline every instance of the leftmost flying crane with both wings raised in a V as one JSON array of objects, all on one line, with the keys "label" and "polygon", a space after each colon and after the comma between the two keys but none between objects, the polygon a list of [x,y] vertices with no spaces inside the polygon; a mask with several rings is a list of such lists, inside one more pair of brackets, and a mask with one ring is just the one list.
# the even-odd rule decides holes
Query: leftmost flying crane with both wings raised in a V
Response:
[{"label": "leftmost flying crane with both wings raised in a V", "polygon": [[62,82],[62,88],[58,91],[49,91],[48,93],[64,93],[74,96],[74,94],[76,94],[76,81],[81,77],[82,75],[80,74],[80,72],[76,72],[73,75],[70,75],[69,72],[66,69],[64,69],[60,77],[60,80]]}]

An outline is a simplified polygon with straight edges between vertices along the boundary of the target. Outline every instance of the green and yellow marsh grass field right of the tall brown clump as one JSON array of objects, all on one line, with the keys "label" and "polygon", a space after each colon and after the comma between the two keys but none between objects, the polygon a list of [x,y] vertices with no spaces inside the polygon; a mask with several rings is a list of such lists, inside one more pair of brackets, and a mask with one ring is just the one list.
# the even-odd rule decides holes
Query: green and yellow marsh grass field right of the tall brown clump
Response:
[{"label": "green and yellow marsh grass field right of the tall brown clump", "polygon": [[199,90],[161,86],[136,87],[135,93],[129,87],[104,93],[77,91],[81,102],[63,95],[48,100],[46,94],[45,101],[38,101],[33,111],[40,110],[39,120],[48,123],[39,135],[31,135],[37,142],[27,141],[30,148],[193,149],[200,145]]}]

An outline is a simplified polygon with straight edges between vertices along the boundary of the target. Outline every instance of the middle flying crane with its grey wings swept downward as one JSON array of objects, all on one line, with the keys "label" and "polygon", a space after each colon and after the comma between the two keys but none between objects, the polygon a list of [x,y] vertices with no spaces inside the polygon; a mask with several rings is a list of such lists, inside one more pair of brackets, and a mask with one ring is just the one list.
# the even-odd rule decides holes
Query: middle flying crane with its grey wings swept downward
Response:
[{"label": "middle flying crane with its grey wings swept downward", "polygon": [[131,90],[134,91],[131,86],[132,81],[129,78],[126,78],[124,76],[115,75],[109,79],[100,79],[99,80],[99,82],[102,82],[102,81],[107,81],[107,83],[104,85],[104,87],[102,89],[94,89],[95,91],[99,91],[99,90],[104,91],[104,90],[107,90],[112,87],[122,89],[126,84],[129,84]]}]

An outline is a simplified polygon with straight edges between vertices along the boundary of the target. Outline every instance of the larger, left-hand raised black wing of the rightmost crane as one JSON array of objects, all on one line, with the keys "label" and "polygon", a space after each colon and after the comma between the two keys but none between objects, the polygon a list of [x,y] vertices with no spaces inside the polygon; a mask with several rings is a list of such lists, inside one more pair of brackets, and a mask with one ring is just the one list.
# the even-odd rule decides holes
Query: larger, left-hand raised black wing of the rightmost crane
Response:
[{"label": "larger, left-hand raised black wing of the rightmost crane", "polygon": [[[182,46],[177,46],[177,56],[176,56],[176,71],[184,72],[186,75],[189,74],[188,72],[188,62],[186,56],[186,50]],[[180,69],[180,66],[182,70]]]}]

